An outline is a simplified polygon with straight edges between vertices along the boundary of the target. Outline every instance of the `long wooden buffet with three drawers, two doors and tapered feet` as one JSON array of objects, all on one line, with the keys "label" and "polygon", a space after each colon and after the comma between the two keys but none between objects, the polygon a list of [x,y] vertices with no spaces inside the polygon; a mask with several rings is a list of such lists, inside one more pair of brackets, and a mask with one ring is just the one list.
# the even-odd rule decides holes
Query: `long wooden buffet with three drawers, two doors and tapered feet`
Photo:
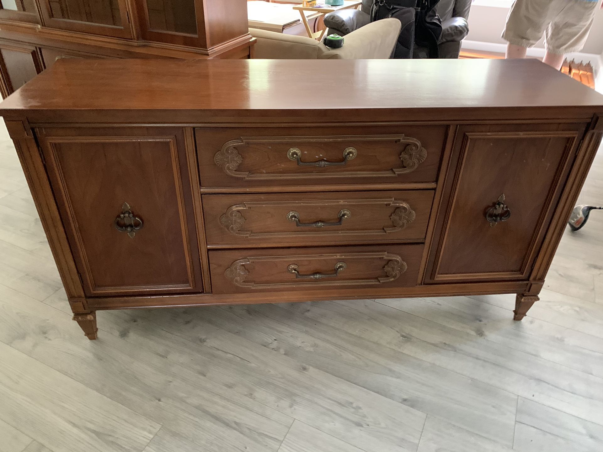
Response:
[{"label": "long wooden buffet with three drawers, two doors and tapered feet", "polygon": [[203,304],[517,293],[520,320],[602,112],[535,60],[61,60],[0,105],[89,339]]}]

